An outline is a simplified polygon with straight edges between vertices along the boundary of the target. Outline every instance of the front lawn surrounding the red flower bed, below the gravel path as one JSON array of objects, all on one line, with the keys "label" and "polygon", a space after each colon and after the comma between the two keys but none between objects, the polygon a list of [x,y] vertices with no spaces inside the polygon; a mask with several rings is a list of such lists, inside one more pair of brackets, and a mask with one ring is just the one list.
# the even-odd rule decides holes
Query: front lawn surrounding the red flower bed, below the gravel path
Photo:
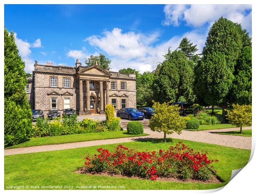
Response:
[{"label": "front lawn surrounding the red flower bed, below the gravel path", "polygon": [[[74,173],[78,167],[82,167],[84,153],[96,154],[99,147],[114,150],[118,144],[66,149],[59,151],[47,151],[31,154],[19,154],[5,156],[5,189],[7,185],[70,185],[76,186],[125,186],[125,189],[215,189],[223,187],[230,180],[232,170],[244,167],[250,156],[251,150],[223,147],[215,144],[192,142],[187,140],[168,139],[163,143],[162,139],[141,140],[122,143],[129,148],[139,151],[168,149],[179,141],[185,143],[194,150],[206,150],[209,159],[218,159],[214,164],[218,170],[218,177],[223,181],[220,184],[207,184],[198,182],[160,182],[151,180],[132,179],[125,177],[109,177],[97,175],[85,175]],[[25,188],[26,189],[26,188]]]}]

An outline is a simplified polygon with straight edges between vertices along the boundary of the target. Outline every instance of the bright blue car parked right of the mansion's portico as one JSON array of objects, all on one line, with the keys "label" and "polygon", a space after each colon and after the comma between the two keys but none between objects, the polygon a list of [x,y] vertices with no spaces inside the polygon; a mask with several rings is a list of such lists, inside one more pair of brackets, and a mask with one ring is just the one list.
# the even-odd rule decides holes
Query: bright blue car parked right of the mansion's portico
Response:
[{"label": "bright blue car parked right of the mansion's portico", "polygon": [[145,114],[134,108],[123,108],[116,112],[117,117],[128,118],[130,121],[133,119],[144,119]]}]

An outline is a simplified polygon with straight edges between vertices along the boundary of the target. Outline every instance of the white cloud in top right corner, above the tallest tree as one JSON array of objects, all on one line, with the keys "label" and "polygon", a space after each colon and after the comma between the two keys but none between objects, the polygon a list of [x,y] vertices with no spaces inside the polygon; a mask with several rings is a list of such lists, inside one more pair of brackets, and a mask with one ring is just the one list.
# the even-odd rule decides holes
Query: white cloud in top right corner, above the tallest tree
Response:
[{"label": "white cloud in top right corner, above the tallest tree", "polygon": [[166,5],[166,19],[162,24],[178,26],[179,21],[185,21],[187,25],[198,27],[226,17],[251,31],[251,11],[248,13],[250,9],[251,5]]}]

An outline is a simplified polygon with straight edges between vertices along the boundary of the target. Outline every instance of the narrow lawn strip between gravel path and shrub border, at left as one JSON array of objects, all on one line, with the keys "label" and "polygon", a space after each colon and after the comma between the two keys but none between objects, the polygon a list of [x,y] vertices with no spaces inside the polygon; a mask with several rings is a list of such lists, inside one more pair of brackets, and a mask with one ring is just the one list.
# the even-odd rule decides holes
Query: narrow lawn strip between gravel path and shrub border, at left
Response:
[{"label": "narrow lawn strip between gravel path and shrub border, at left", "polygon": [[128,134],[127,131],[108,131],[108,132],[92,132],[92,133],[81,133],[74,135],[61,135],[61,136],[48,136],[48,137],[35,137],[30,138],[28,141],[23,142],[21,144],[17,144],[9,148],[17,148],[17,147],[29,147],[29,146],[38,146],[38,145],[47,145],[47,144],[63,144],[63,143],[71,143],[71,142],[84,142],[84,141],[92,141],[92,140],[106,140],[106,139],[114,139],[121,137],[137,137],[149,135],[146,133],[139,135],[131,135]]}]

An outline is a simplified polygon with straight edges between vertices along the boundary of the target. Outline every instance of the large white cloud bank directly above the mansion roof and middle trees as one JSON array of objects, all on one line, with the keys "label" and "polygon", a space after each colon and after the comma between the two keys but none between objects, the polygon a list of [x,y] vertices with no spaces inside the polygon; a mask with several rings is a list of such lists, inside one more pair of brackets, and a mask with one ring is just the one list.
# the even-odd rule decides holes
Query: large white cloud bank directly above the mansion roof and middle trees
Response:
[{"label": "large white cloud bank directly above the mansion roof and middle trees", "polygon": [[197,44],[198,52],[201,52],[206,33],[191,31],[162,43],[153,44],[158,37],[159,33],[147,35],[135,32],[123,33],[120,28],[114,28],[112,31],[104,31],[103,36],[92,35],[84,41],[108,54],[113,71],[130,67],[144,72],[154,70],[157,63],[164,60],[163,55],[168,52],[168,48],[175,50],[184,37]]}]

